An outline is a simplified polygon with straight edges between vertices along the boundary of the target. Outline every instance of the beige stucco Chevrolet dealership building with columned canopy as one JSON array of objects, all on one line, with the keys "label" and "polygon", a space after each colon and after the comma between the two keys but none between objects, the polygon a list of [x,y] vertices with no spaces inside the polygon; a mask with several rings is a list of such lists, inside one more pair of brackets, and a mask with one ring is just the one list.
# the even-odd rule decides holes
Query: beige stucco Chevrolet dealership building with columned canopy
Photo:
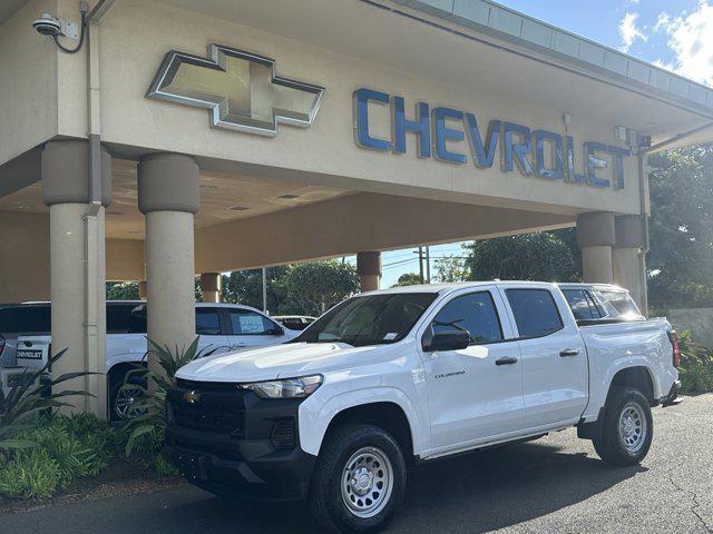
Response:
[{"label": "beige stucco Chevrolet dealership building with columned canopy", "polygon": [[487,0],[81,19],[0,6],[0,301],[51,299],[59,373],[106,370],[106,280],[182,345],[196,276],[217,299],[222,271],[356,255],[368,290],[384,250],[575,226],[585,280],[645,308],[646,155],[713,132],[712,89]]}]

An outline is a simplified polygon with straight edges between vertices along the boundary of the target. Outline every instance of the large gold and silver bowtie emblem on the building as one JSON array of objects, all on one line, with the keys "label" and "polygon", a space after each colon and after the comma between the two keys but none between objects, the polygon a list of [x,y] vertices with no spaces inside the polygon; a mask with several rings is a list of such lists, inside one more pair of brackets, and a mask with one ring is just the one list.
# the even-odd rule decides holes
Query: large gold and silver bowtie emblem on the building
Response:
[{"label": "large gold and silver bowtie emblem on the building", "polygon": [[147,98],[208,109],[217,128],[276,136],[277,123],[306,128],[324,88],[275,75],[275,61],[211,44],[208,59],[170,51]]}]

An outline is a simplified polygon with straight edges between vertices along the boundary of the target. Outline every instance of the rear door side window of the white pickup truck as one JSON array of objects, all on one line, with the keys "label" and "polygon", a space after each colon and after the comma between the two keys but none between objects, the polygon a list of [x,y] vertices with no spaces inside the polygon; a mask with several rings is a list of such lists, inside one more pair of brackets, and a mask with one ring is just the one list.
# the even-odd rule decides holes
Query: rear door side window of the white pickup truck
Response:
[{"label": "rear door side window of the white pickup truck", "polygon": [[564,328],[557,304],[547,289],[507,289],[520,337],[541,337]]}]

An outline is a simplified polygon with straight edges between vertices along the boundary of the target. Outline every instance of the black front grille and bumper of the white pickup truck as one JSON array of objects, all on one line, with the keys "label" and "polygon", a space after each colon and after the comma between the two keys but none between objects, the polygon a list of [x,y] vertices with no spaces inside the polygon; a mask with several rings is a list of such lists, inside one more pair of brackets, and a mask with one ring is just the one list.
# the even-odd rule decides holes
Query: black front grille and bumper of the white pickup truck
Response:
[{"label": "black front grille and bumper of the white pickup truck", "polygon": [[[194,402],[185,399],[186,392]],[[316,458],[300,448],[299,404],[179,382],[166,396],[167,456],[188,482],[218,495],[305,498]]]}]

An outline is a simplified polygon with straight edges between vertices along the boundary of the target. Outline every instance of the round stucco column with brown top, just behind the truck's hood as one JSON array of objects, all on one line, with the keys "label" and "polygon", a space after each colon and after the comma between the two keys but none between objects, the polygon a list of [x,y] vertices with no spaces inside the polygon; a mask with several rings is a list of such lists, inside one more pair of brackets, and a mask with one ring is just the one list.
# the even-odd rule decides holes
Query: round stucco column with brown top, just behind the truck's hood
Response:
[{"label": "round stucco column with brown top, just behind the truck's hood", "polygon": [[[198,165],[187,156],[155,154],[138,165],[138,207],[146,216],[148,337],[187,347],[196,335],[193,219]],[[149,368],[160,372],[149,353]]]}]

